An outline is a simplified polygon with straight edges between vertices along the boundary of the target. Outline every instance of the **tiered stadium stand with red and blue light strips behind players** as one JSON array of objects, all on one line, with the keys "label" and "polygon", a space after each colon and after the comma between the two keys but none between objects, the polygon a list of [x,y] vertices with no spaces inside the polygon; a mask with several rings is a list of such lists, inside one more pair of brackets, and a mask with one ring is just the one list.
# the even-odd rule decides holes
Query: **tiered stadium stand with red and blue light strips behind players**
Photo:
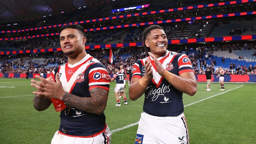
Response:
[{"label": "tiered stadium stand with red and blue light strips behind players", "polygon": [[[124,64],[127,69],[131,69],[137,59],[146,55],[143,48],[137,47],[142,45],[120,47],[117,44],[141,43],[142,31],[150,24],[149,22],[160,24],[168,39],[178,40],[180,43],[177,44],[182,44],[182,40],[197,38],[198,42],[186,41],[182,45],[169,44],[169,49],[187,54],[193,62],[193,67],[197,68],[200,74],[204,74],[206,67],[229,68],[231,62],[243,66],[254,66],[256,64],[255,56],[253,56],[255,46],[249,48],[249,45],[254,44],[253,41],[246,41],[248,47],[245,47],[243,38],[234,37],[236,39],[230,41],[223,39],[208,42],[204,39],[244,35],[251,35],[248,40],[256,39],[254,36],[256,25],[254,1],[236,1],[235,3],[225,1],[224,4],[220,4],[219,2],[222,1],[217,0],[211,2],[215,4],[201,0],[190,0],[185,3],[178,1],[165,3],[161,1],[160,3],[160,1],[153,0],[113,1],[97,5],[90,10],[77,9],[42,18],[39,23],[30,19],[29,22],[19,20],[19,25],[2,25],[0,27],[2,39],[0,42],[0,73],[25,73],[26,70],[32,73],[49,73],[54,67],[65,63],[66,57],[61,52],[48,52],[48,49],[60,51],[58,27],[63,24],[76,23],[87,29],[86,46],[90,46],[87,52],[99,59],[110,74],[113,73],[115,65]],[[135,6],[135,4],[150,5],[142,9],[111,12],[112,9]],[[215,19],[217,17],[219,18]],[[201,44],[202,42],[205,43]],[[115,64],[108,62],[109,49],[105,49],[106,47],[100,46],[101,50],[91,49],[91,46],[107,44],[116,45],[112,47]],[[20,54],[20,51],[23,54]],[[211,60],[205,57],[206,53],[211,55]],[[225,58],[224,63],[222,63],[222,57]],[[205,59],[206,64],[204,62],[201,64],[200,58]],[[212,64],[214,59],[216,63]]]}]

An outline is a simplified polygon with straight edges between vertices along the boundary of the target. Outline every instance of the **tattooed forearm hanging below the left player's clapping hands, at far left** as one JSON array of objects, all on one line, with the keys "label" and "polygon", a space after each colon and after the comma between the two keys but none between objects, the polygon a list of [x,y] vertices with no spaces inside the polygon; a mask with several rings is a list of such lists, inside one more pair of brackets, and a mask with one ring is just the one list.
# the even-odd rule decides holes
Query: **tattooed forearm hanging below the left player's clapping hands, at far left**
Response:
[{"label": "tattooed forearm hanging below the left player's clapping hands, at far left", "polygon": [[33,99],[34,108],[38,111],[46,110],[50,105],[52,101],[47,99],[44,96],[35,96]]}]

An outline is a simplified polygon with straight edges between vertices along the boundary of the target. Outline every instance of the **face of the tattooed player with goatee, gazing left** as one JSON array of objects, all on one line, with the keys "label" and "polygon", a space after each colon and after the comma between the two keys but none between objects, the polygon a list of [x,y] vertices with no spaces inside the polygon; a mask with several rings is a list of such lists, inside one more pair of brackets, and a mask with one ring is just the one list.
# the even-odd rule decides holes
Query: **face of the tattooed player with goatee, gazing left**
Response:
[{"label": "face of the tattooed player with goatee, gazing left", "polygon": [[60,33],[60,46],[67,56],[76,56],[83,49],[86,38],[77,29],[67,28]]}]

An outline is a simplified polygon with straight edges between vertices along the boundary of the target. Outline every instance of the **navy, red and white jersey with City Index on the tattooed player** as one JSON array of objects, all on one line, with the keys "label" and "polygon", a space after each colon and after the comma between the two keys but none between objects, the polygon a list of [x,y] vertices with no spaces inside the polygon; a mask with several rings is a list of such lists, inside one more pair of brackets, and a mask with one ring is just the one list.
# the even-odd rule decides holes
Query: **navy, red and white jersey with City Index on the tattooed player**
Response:
[{"label": "navy, red and white jersey with City Index on the tattooed player", "polygon": [[[103,88],[109,91],[110,75],[106,68],[97,59],[87,54],[76,64],[66,63],[52,71],[53,79],[56,73],[64,91],[79,97],[91,97],[90,90]],[[72,136],[90,136],[96,134],[105,127],[105,115],[88,113],[66,104],[66,108],[60,113],[59,131]]]}]

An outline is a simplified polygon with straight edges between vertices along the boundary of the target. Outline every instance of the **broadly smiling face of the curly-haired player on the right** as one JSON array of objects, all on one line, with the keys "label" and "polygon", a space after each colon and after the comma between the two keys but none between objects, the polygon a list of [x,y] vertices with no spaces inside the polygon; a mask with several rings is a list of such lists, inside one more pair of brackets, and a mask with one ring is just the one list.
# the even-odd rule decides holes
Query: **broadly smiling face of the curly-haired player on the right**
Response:
[{"label": "broadly smiling face of the curly-haired player on the right", "polygon": [[154,29],[147,35],[145,44],[157,58],[166,53],[168,40],[162,29]]}]

